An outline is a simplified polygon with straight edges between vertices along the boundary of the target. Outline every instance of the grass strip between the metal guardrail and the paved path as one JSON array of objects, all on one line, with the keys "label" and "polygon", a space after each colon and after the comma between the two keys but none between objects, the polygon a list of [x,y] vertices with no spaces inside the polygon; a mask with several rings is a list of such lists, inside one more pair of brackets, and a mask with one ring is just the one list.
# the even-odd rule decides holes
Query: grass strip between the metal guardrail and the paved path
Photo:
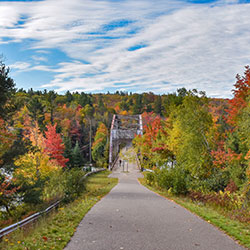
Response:
[{"label": "grass strip between the metal guardrail and the paved path", "polygon": [[63,249],[85,214],[117,184],[108,175],[105,171],[88,177],[86,191],[77,200],[4,237],[0,249]]}]

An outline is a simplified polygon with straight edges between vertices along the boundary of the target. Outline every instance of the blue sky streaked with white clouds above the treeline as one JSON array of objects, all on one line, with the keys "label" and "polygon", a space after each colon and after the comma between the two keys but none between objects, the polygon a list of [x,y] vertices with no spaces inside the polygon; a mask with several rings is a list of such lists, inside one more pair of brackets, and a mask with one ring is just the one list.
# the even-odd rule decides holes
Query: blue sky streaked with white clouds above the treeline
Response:
[{"label": "blue sky streaked with white clouds above the treeline", "polygon": [[17,88],[232,97],[250,64],[250,0],[0,1]]}]

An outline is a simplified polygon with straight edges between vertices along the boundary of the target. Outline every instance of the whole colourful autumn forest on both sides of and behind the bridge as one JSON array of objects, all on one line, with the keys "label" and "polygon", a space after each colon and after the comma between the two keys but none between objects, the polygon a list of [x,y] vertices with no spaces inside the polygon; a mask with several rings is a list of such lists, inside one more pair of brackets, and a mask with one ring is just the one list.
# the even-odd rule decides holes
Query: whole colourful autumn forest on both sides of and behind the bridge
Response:
[{"label": "whole colourful autumn forest on both sides of and behind the bridge", "polygon": [[113,114],[142,114],[144,134],[133,144],[143,168],[153,170],[149,185],[250,220],[248,66],[233,98],[216,99],[185,88],[162,95],[16,89],[1,62],[0,226],[75,199],[83,166],[107,168]]}]

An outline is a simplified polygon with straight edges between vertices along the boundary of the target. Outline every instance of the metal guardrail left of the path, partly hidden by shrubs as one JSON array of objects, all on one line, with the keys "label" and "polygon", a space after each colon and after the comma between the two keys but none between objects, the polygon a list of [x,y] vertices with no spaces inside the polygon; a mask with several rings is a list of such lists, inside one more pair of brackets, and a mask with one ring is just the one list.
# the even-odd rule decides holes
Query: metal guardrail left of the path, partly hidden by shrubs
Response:
[{"label": "metal guardrail left of the path, partly hidden by shrubs", "polygon": [[[89,172],[89,173],[87,173],[87,174],[85,174],[83,176],[83,179],[85,179],[86,177],[88,177],[88,176],[90,176],[92,174],[99,173],[99,172],[104,171],[104,170],[106,170],[106,169],[105,168],[101,168],[101,169]],[[10,226],[7,226],[7,227],[1,229],[0,230],[0,239],[3,236],[5,236],[5,235],[7,235],[9,233],[12,233],[13,231],[17,230],[18,228],[21,228],[21,227],[23,227],[23,226],[25,226],[25,225],[27,225],[27,224],[29,224],[29,223],[37,220],[42,215],[49,213],[53,208],[58,207],[59,204],[61,203],[61,201],[62,200],[59,200],[59,201],[55,202],[54,204],[50,205],[49,207],[47,207],[45,210],[37,212],[35,214],[32,214],[31,216],[25,218],[24,220],[21,220],[21,221],[19,221],[17,223],[14,223],[14,224],[12,224]]]}]

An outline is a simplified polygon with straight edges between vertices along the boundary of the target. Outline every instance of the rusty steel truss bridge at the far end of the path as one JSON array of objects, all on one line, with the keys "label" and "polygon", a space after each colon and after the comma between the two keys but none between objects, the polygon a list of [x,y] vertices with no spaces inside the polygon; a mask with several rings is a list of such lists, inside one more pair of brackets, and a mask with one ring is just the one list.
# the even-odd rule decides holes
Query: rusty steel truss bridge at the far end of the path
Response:
[{"label": "rusty steel truss bridge at the far end of the path", "polygon": [[143,134],[141,115],[113,115],[110,129],[109,169],[118,159],[122,146],[131,144],[136,135]]}]

